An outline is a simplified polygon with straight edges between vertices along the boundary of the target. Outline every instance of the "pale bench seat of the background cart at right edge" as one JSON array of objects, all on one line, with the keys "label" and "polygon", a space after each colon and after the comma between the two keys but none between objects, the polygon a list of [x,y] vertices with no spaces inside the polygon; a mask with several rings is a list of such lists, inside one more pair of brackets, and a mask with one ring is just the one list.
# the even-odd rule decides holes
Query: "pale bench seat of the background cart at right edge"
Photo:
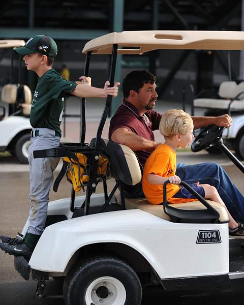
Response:
[{"label": "pale bench seat of the background cart at right edge", "polygon": [[244,110],[244,82],[224,81],[219,87],[219,96],[222,99],[199,98],[194,99],[194,107],[222,109],[231,111]]}]

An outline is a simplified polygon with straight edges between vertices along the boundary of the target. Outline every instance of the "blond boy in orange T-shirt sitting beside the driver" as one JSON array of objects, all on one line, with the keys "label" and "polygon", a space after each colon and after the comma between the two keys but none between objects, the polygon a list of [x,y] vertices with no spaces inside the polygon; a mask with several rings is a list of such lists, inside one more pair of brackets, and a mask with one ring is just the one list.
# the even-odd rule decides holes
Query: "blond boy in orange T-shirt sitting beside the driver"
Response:
[{"label": "blond boy in orange T-shirt sitting beside the driver", "polygon": [[[186,148],[193,140],[193,120],[183,110],[172,109],[163,114],[160,133],[165,138],[165,143],[160,144],[146,161],[142,188],[146,199],[151,204],[160,204],[163,201],[163,184],[167,185],[167,201],[169,203],[182,203],[196,201],[197,199],[184,187],[180,187],[180,178],[176,172],[176,149]],[[193,177],[194,178],[194,177]],[[207,184],[190,185],[203,198],[216,201],[225,206],[217,189]],[[229,234],[236,237],[244,237],[244,230],[229,214]]]}]

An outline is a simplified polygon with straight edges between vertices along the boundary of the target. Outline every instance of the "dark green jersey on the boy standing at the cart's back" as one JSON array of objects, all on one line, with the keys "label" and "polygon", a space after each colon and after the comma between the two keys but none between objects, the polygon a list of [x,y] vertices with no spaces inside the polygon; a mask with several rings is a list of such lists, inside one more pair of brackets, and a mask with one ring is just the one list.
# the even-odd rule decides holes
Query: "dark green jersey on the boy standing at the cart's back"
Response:
[{"label": "dark green jersey on the boy standing at the cart's back", "polygon": [[39,79],[32,100],[29,121],[33,128],[49,128],[61,134],[64,100],[77,84],[67,81],[53,68]]}]

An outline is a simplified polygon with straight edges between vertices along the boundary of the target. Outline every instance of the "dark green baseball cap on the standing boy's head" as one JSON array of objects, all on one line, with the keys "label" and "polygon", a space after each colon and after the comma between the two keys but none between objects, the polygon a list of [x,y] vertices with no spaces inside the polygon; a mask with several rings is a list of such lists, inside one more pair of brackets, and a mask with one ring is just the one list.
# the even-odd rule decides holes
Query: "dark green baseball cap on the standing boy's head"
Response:
[{"label": "dark green baseball cap on the standing boy's head", "polygon": [[38,52],[55,58],[57,55],[57,45],[55,41],[47,35],[36,35],[30,38],[23,47],[16,48],[13,51],[20,55]]}]

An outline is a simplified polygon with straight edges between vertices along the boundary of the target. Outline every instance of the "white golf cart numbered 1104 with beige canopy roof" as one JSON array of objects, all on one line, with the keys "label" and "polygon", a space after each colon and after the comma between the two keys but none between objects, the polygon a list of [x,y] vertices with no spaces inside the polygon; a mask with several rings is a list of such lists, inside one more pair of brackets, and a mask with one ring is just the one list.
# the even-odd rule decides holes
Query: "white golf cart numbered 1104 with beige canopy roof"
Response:
[{"label": "white golf cart numbered 1104 with beige canopy roof", "polygon": [[[111,33],[85,45],[85,75],[91,54],[112,54],[109,81],[113,84],[117,53],[243,48],[241,32]],[[164,204],[158,206],[145,199],[125,199],[123,183],[137,184],[141,171],[130,148],[101,139],[111,101],[108,97],[97,136],[90,144],[83,143],[82,120],[81,143],[63,143],[34,152],[35,158],[64,158],[55,190],[66,172],[74,188],[86,187],[86,195],[75,197],[72,187],[71,199],[49,203],[46,228],[32,257],[29,261],[15,257],[16,270],[25,280],[38,281],[38,297],[45,297],[49,277],[63,278],[66,305],[139,305],[147,285],[172,291],[244,283],[243,249],[239,239],[229,239],[227,213],[219,204],[199,195],[198,202],[168,205],[164,198]],[[84,114],[84,99],[82,109]],[[209,127],[193,143],[193,150],[209,143],[222,145],[225,150],[222,131]],[[235,163],[243,171],[241,163]],[[72,172],[78,173],[78,178]],[[116,181],[110,194],[106,184],[109,177]],[[104,193],[93,194],[99,182],[103,182]],[[23,234],[27,226],[26,222]]]}]

